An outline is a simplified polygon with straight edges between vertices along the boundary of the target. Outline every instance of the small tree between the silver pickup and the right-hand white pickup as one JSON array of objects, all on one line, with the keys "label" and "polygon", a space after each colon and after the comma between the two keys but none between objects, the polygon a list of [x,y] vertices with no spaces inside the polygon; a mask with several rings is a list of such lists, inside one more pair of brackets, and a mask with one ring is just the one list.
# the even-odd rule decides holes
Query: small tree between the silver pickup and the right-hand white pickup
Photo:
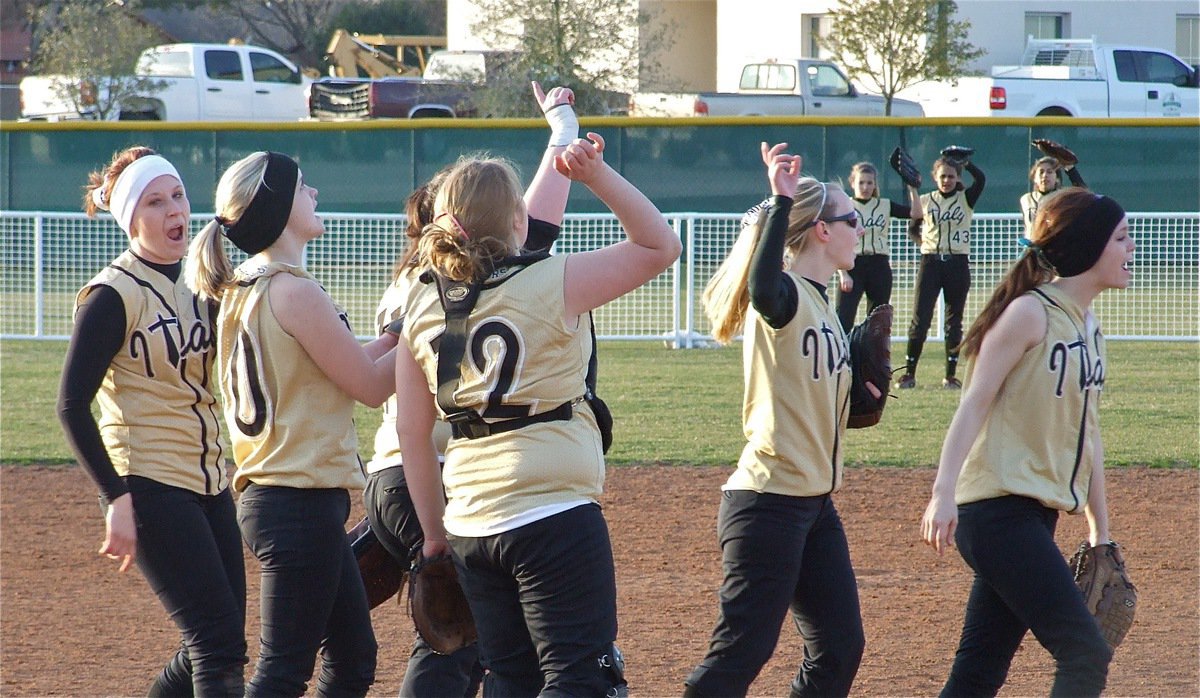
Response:
[{"label": "small tree between the silver pickup and the right-hand white pickup", "polygon": [[971,23],[954,18],[954,0],[839,0],[828,36],[818,37],[846,67],[883,95],[925,80],[953,80],[986,52],[967,41]]}]

